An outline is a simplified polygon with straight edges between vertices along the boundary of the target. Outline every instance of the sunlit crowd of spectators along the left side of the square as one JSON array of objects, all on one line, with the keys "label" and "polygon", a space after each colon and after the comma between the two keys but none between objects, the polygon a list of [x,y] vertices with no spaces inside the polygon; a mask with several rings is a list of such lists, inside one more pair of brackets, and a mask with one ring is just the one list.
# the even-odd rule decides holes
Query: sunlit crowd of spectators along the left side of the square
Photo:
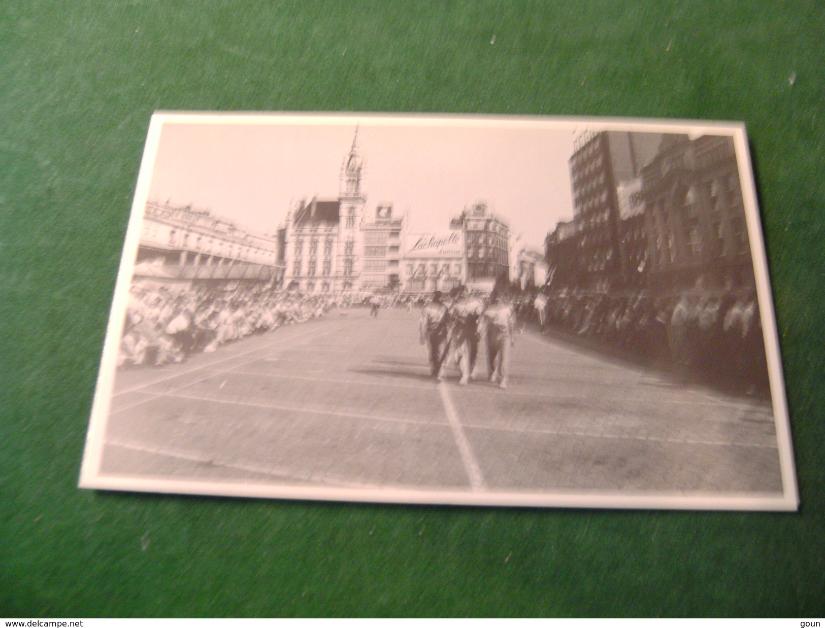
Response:
[{"label": "sunlit crowd of spectators along the left side of the square", "polygon": [[118,366],[160,366],[210,353],[222,344],[280,326],[323,316],[348,306],[347,297],[299,293],[233,293],[189,288],[143,288],[133,284],[126,307]]}]

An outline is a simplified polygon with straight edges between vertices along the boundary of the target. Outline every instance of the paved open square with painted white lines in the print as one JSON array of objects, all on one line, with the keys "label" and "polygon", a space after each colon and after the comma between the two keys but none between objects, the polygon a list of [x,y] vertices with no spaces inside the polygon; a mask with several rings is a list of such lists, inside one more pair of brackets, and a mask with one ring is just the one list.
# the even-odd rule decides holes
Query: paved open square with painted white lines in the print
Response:
[{"label": "paved open square with painted white lines in the print", "polygon": [[[479,363],[483,366],[483,347]],[[428,377],[417,312],[332,312],[118,373],[101,474],[476,491],[781,492],[770,405],[546,336],[501,390]]]}]

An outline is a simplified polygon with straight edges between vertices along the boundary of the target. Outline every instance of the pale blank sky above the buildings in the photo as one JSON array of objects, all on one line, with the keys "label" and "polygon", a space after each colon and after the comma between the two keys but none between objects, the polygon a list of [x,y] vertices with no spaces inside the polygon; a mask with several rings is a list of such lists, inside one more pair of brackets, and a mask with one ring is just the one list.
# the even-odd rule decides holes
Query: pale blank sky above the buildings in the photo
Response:
[{"label": "pale blank sky above the buildings in the photo", "polygon": [[[356,130],[341,124],[163,126],[149,199],[210,209],[272,233],[299,199],[336,199]],[[542,250],[559,219],[573,216],[568,158],[573,132],[361,122],[367,210],[408,211],[413,232],[444,231],[450,218],[486,201],[522,246]]]}]

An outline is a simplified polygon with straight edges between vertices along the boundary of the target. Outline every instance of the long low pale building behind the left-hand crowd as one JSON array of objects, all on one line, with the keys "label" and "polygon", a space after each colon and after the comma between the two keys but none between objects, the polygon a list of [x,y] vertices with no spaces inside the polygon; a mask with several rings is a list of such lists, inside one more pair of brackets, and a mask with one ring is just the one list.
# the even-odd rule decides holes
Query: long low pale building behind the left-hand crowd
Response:
[{"label": "long low pale building behind the left-hand crowd", "polygon": [[284,266],[276,236],[247,231],[191,205],[149,201],[134,276],[181,287],[266,284],[276,288]]}]

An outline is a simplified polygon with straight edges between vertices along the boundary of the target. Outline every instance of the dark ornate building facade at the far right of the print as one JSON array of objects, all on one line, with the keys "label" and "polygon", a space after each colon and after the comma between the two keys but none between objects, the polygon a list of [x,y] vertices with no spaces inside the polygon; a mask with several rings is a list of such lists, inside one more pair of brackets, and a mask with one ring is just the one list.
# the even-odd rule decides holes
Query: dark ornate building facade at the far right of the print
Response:
[{"label": "dark ornate building facade at the far right of the print", "polygon": [[754,286],[733,138],[666,136],[641,195],[651,287]]}]

